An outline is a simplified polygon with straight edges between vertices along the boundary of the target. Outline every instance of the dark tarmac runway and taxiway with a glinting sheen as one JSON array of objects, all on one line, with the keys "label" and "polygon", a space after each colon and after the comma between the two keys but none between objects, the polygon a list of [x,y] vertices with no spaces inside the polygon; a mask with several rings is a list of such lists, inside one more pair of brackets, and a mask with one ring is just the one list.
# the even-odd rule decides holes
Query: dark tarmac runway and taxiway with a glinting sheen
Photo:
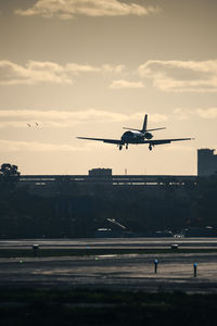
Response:
[{"label": "dark tarmac runway and taxiway with a glinting sheen", "polygon": [[[87,248],[87,255],[0,259],[0,287],[108,288],[122,290],[217,292],[216,238],[1,240],[0,249]],[[192,252],[91,254],[91,248],[192,248]],[[193,252],[193,249],[202,249]],[[157,260],[155,273],[154,261]],[[196,263],[196,275],[194,263]]]}]

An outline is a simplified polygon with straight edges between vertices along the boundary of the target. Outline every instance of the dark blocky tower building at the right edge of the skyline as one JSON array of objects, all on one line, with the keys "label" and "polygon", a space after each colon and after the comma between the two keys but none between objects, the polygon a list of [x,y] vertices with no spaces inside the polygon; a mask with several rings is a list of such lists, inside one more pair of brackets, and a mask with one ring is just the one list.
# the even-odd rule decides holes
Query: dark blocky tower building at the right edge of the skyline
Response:
[{"label": "dark blocky tower building at the right edge of the skyline", "polygon": [[217,155],[214,149],[197,150],[197,176],[209,176],[217,174]]}]

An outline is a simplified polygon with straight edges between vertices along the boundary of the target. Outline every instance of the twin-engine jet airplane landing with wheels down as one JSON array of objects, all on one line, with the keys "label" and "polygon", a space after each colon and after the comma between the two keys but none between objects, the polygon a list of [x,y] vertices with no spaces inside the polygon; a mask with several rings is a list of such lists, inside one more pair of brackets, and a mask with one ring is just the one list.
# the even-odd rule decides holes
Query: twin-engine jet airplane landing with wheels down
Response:
[{"label": "twin-engine jet airplane landing with wheels down", "polygon": [[120,139],[89,138],[89,137],[76,137],[76,138],[114,143],[114,145],[118,146],[119,150],[122,150],[124,146],[126,147],[126,149],[128,149],[129,143],[133,143],[133,145],[149,143],[150,151],[156,145],[164,145],[164,143],[170,143],[171,141],[181,141],[181,140],[193,139],[193,138],[152,139],[153,135],[150,131],[162,130],[162,129],[166,129],[166,128],[162,127],[162,128],[148,129],[148,114],[144,115],[144,122],[143,122],[142,129],[135,129],[135,128],[128,128],[128,127],[123,127],[123,128],[127,129],[128,131],[125,131],[123,134],[123,136],[120,137]]}]

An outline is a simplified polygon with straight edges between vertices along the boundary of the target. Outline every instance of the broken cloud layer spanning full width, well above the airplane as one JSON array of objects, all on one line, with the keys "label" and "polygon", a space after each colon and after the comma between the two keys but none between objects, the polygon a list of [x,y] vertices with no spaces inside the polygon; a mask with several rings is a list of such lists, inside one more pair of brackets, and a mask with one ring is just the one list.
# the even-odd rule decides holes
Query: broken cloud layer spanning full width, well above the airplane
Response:
[{"label": "broken cloud layer spanning full width, well above the airplane", "polygon": [[[73,84],[76,76],[87,73],[104,75],[120,74],[125,71],[128,78],[135,79],[135,73],[127,71],[124,64],[89,64],[67,63],[64,66],[55,62],[29,61],[18,65],[11,61],[0,61],[0,84],[34,85],[38,83]],[[217,60],[208,61],[159,61],[149,60],[138,67],[142,79],[153,79],[153,86],[162,91],[175,92],[216,92]],[[144,88],[143,80],[114,79],[112,89]]]}]

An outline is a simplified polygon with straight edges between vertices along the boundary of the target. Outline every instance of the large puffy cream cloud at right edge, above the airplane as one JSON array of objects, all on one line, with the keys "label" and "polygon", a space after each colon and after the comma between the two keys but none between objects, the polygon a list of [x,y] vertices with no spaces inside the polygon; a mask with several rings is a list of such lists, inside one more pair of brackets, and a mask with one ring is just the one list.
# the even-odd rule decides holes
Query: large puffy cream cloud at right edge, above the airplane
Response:
[{"label": "large puffy cream cloud at right edge, above the airplane", "polygon": [[217,91],[217,60],[149,60],[139,66],[139,74],[152,78],[154,87],[163,91]]}]

